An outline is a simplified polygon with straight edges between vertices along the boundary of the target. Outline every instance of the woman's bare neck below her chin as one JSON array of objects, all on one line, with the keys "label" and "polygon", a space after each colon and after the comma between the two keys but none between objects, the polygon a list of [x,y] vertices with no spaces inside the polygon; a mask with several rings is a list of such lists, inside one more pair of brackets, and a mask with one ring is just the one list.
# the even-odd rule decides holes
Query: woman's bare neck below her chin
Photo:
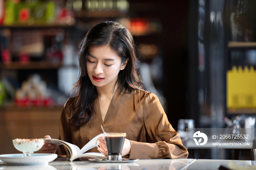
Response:
[{"label": "woman's bare neck below her chin", "polygon": [[[99,98],[112,98],[113,93],[116,92],[117,87],[118,87],[117,84],[115,87],[114,87],[114,84],[96,87],[97,92],[98,92],[98,97]],[[114,89],[114,91],[113,91],[113,89]]]}]

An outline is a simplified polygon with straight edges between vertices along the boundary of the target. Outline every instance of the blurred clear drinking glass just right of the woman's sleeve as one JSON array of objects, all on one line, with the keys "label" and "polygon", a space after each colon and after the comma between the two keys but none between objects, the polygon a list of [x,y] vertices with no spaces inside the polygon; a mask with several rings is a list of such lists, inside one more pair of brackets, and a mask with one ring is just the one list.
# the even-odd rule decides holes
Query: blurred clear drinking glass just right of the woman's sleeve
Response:
[{"label": "blurred clear drinking glass just right of the woman's sleeve", "polygon": [[[193,132],[195,128],[195,120],[193,119],[179,119],[177,132],[180,138],[188,139],[189,136],[193,137]],[[186,128],[188,130],[186,131]]]}]

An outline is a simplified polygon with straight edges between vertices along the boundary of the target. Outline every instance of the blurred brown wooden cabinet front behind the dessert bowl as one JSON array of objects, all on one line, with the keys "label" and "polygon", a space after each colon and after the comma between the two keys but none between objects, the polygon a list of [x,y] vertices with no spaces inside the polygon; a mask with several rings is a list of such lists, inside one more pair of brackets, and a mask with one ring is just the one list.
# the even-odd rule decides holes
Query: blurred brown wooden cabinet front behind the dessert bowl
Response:
[{"label": "blurred brown wooden cabinet front behind the dessert bowl", "polygon": [[18,153],[11,139],[59,137],[59,122],[62,108],[0,108],[1,154]]}]

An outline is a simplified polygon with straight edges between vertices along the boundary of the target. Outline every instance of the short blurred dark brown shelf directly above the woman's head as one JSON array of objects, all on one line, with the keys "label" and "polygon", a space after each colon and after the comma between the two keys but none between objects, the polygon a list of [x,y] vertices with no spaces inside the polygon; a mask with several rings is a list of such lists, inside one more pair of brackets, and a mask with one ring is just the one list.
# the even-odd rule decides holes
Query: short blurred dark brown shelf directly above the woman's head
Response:
[{"label": "short blurred dark brown shelf directly above the woman's head", "polygon": [[87,11],[82,10],[77,13],[77,18],[123,18],[123,17],[129,17],[127,14],[127,11]]}]

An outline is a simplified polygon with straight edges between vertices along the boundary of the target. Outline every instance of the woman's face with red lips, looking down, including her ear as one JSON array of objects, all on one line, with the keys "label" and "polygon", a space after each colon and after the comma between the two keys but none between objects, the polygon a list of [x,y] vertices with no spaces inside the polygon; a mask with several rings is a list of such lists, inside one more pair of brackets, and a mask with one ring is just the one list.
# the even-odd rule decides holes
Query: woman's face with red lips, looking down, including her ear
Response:
[{"label": "woman's face with red lips, looking down, including her ear", "polygon": [[87,51],[87,73],[97,87],[114,86],[118,73],[125,68],[127,62],[128,59],[122,64],[121,58],[108,46],[90,46]]}]

